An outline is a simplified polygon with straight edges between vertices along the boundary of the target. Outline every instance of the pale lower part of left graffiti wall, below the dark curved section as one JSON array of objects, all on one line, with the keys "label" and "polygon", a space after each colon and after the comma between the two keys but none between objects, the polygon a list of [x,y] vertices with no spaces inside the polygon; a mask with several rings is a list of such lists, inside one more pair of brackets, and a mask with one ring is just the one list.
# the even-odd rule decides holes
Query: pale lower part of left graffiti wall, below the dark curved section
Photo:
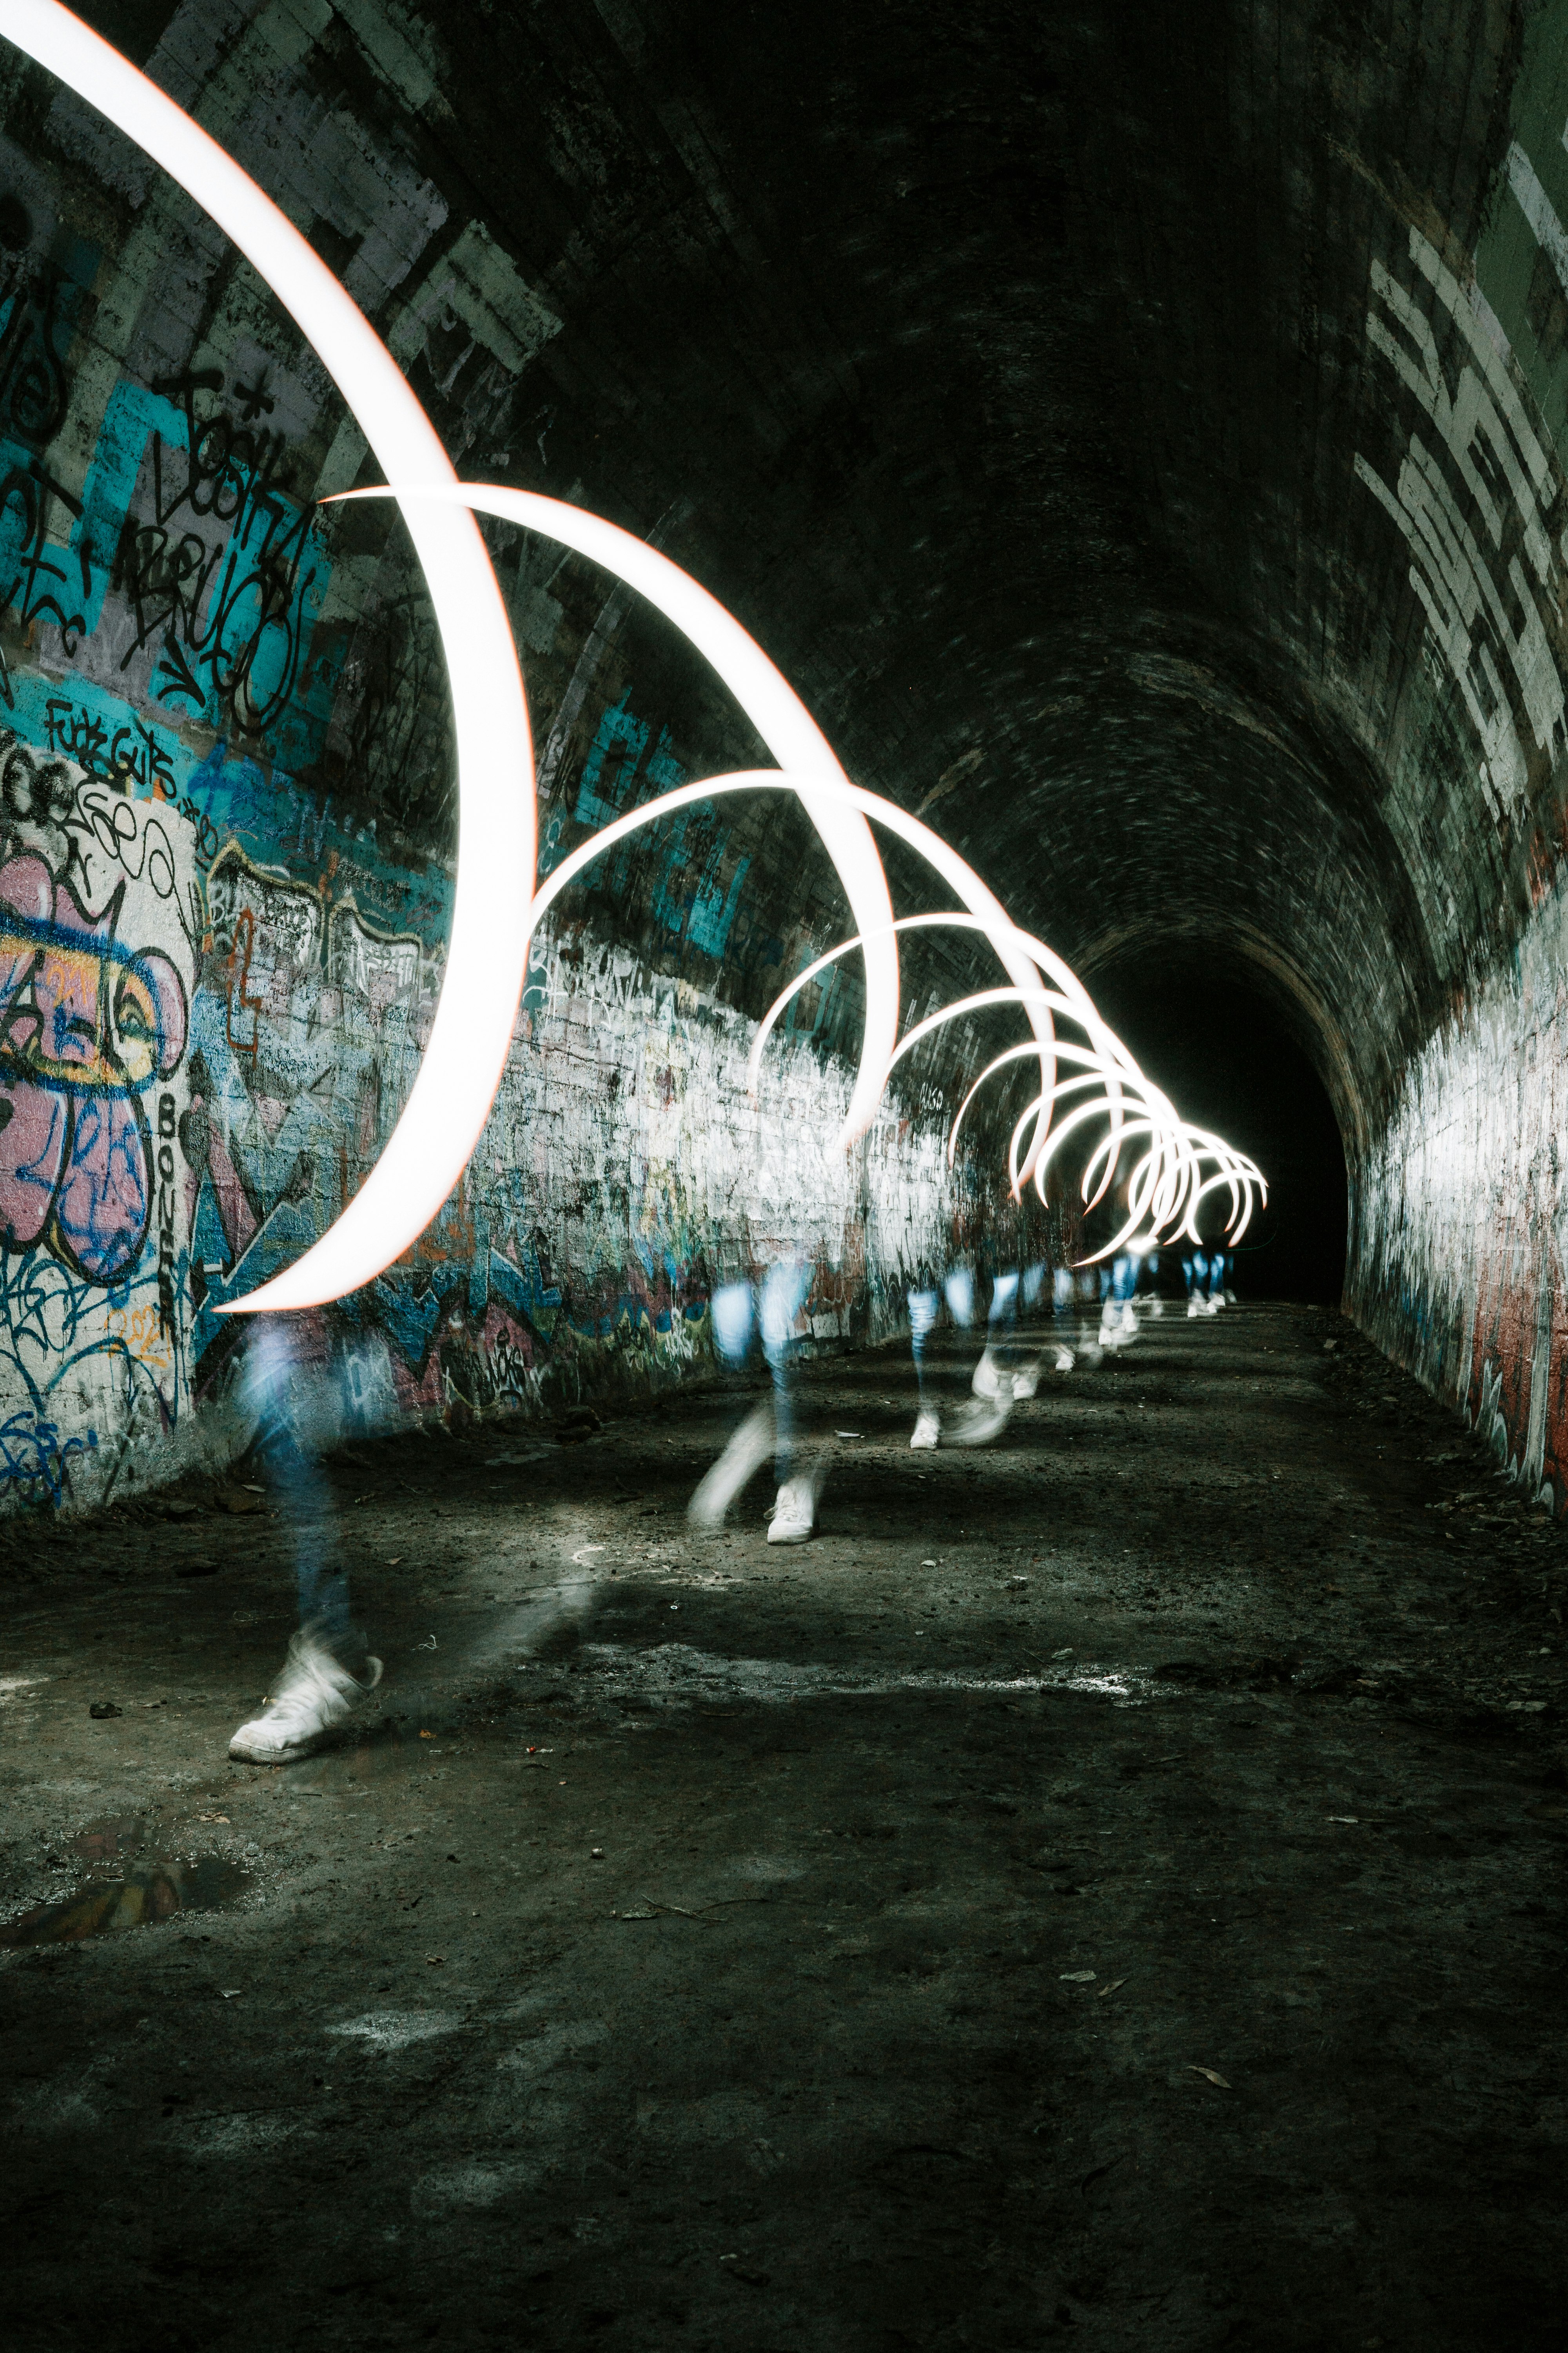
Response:
[{"label": "pale lower part of left graffiti wall, below the dark curved section", "polygon": [[[219,1308],[364,1179],[440,988],[418,934],[242,847],[221,765],[179,798],[162,769],[101,779],[52,748],[94,748],[61,708],[52,741],[0,736],[12,1504],[82,1504],[242,1442],[242,1325]],[[844,1155],[846,1066],[797,1035],[752,1104],[750,1038],[630,951],[543,934],[458,1193],[400,1266],[310,1318],[317,1412],[350,1431],[658,1386],[710,1360],[712,1282],[780,1249],[813,1261],[816,1341],[886,1327],[961,1209],[940,1125],[886,1108]]]}]

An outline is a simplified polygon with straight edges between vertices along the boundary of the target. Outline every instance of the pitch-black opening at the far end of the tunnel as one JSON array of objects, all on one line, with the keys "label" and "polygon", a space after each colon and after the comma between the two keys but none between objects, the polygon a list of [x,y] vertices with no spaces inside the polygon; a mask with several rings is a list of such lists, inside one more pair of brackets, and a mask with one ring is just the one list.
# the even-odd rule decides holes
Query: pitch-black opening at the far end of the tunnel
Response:
[{"label": "pitch-black opening at the far end of the tunnel", "polygon": [[1237,1292],[1338,1304],[1347,1226],[1340,1125],[1258,974],[1208,951],[1152,951],[1098,974],[1095,1002],[1182,1115],[1251,1153],[1267,1179],[1267,1207],[1237,1247]]}]

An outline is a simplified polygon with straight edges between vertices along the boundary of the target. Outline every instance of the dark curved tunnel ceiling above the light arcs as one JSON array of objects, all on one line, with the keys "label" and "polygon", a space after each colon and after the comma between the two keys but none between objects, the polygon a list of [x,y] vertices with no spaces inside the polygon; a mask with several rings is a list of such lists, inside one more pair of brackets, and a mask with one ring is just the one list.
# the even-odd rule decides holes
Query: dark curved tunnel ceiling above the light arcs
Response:
[{"label": "dark curved tunnel ceiling above the light arcs", "polygon": [[[139,59],[167,16],[89,14]],[[559,318],[508,414],[418,360],[458,471],[658,529],[1091,984],[1166,936],[1244,958],[1363,1129],[1559,835],[1523,367],[1568,311],[1509,193],[1528,87],[1568,209],[1547,16],[374,16],[421,64],[369,71],[341,9],[317,78]],[[1486,541],[1479,616],[1422,532]]]}]

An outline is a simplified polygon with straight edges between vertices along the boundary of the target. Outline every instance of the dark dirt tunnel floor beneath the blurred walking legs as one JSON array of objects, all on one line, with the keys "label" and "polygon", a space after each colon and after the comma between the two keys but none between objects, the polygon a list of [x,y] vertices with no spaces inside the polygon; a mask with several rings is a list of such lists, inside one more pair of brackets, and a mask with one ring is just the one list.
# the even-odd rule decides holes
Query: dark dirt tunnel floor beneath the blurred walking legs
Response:
[{"label": "dark dirt tunnel floor beneath the blurred walking legs", "polygon": [[282,1772],[287,1492],[12,1539],[9,2346],[1559,2341],[1563,1537],[1326,1311],[804,1386],[799,1551],[733,1398],[339,1457]]}]

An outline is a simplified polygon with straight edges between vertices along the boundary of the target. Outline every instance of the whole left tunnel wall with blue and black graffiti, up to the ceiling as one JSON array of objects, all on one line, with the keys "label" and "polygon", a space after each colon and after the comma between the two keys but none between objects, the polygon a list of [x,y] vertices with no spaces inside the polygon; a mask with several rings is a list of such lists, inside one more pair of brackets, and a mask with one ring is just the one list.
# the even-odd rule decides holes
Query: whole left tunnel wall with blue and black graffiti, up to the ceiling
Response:
[{"label": "whole left tunnel wall with blue and black graffiti, up to the ceiling", "polygon": [[[505,464],[559,318],[414,162],[435,35],[397,26],[186,5],[148,71],[331,256],[454,459]],[[0,1508],[228,1459],[244,1327],[219,1308],[324,1231],[407,1101],[451,904],[449,708],[400,525],[317,504],[362,461],[197,207],[2,52]],[[710,687],[632,692],[625,595],[517,541],[494,534],[550,864],[743,739]],[[811,1334],[858,1339],[940,1252],[961,1181],[931,1120],[830,1151],[853,984],[795,1009],[745,1096],[736,993],[766,1002],[839,920],[788,835],[769,875],[745,828],[686,812],[536,944],[458,1193],[306,1320],[329,1424],[677,1379],[708,1362],[712,1282],[780,1245],[813,1264]]]}]

